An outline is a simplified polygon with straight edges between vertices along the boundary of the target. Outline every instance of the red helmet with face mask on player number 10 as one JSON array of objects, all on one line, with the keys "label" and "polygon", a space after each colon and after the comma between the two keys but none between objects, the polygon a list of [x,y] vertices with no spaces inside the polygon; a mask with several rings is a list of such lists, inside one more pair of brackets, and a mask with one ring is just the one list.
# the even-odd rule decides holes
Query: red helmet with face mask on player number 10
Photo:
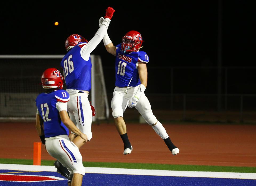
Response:
[{"label": "red helmet with face mask on player number 10", "polygon": [[123,52],[138,51],[143,42],[141,34],[135,30],[127,32],[122,39],[121,48]]}]

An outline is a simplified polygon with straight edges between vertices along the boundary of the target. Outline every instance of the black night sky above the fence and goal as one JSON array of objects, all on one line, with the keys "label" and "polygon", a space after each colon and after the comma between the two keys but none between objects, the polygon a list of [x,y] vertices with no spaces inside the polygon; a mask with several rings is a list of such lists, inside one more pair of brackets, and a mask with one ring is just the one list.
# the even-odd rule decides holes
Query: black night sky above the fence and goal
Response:
[{"label": "black night sky above the fence and goal", "polygon": [[[108,33],[114,45],[121,42],[127,31],[137,30],[145,41],[143,50],[152,66],[217,66],[218,1],[113,2],[5,3],[1,6],[0,54],[64,55],[65,39],[76,33],[90,40],[98,29],[99,17],[111,6],[116,12]],[[253,3],[223,1],[222,4],[222,65],[255,66]],[[55,21],[59,26],[54,26]],[[103,42],[92,54],[114,60]]]}]

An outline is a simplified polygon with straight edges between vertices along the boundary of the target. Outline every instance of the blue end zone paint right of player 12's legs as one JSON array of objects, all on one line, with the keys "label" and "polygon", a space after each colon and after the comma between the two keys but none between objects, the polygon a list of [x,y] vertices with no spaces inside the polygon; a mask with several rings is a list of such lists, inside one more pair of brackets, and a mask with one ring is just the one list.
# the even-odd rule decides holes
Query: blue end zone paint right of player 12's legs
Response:
[{"label": "blue end zone paint right of player 12's legs", "polygon": [[256,180],[174,176],[86,174],[88,185],[256,185]]}]

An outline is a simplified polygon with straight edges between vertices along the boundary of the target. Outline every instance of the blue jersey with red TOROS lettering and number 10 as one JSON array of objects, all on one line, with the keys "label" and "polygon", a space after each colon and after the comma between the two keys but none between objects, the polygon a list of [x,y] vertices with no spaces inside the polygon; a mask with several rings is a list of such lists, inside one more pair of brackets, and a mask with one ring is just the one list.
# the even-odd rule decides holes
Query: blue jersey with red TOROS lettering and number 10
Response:
[{"label": "blue jersey with red TOROS lettering and number 10", "polygon": [[124,53],[121,50],[121,44],[116,46],[115,58],[115,86],[126,87],[137,86],[141,84],[137,65],[139,62],[148,63],[149,57],[144,51]]}]

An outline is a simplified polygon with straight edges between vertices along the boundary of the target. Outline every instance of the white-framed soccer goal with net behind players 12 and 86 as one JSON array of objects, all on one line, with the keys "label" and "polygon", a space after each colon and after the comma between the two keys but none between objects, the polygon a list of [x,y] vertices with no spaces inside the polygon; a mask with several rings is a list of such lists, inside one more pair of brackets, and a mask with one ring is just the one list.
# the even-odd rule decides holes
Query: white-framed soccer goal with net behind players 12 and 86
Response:
[{"label": "white-framed soccer goal with net behind players 12 and 86", "polygon": [[[64,55],[0,55],[0,120],[33,121],[35,98],[43,92],[40,77],[46,68],[60,66]],[[106,86],[101,57],[91,55],[91,103],[96,116],[93,121],[109,117]],[[64,85],[64,89],[65,89]]]}]

